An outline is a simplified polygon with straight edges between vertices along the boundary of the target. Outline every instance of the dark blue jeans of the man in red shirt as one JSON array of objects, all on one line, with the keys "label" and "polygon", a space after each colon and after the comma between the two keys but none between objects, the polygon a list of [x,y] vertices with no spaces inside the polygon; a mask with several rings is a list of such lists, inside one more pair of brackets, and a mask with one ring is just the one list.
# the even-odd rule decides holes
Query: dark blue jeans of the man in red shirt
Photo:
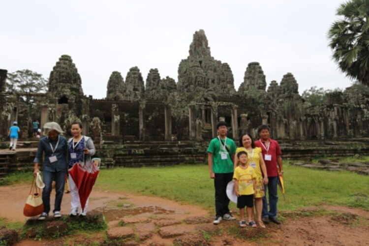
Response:
[{"label": "dark blue jeans of the man in red shirt", "polygon": [[[263,217],[277,217],[277,182],[278,177],[268,177],[268,184],[264,185],[265,196],[263,197]],[[268,202],[267,202],[267,189],[269,195],[269,212],[268,212]]]}]

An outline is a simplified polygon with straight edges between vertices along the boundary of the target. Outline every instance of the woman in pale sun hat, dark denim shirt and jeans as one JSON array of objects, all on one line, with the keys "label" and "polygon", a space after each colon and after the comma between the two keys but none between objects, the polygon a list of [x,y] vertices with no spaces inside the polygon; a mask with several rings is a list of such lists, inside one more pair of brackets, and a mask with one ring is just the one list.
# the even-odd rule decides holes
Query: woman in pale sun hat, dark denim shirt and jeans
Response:
[{"label": "woman in pale sun hat, dark denim shirt and jeans", "polygon": [[42,161],[42,154],[44,154],[44,160],[42,162],[42,174],[45,187],[42,190],[42,201],[44,204],[44,212],[38,217],[38,219],[45,219],[50,212],[50,193],[52,189],[53,180],[55,180],[55,205],[54,205],[54,218],[62,216],[61,204],[64,193],[64,181],[67,174],[67,162],[66,152],[67,143],[66,138],[61,136],[63,133],[62,128],[56,122],[48,122],[43,126],[43,135],[38,142],[38,149],[36,156],[33,160],[34,171],[33,175],[36,175],[39,170],[39,163]]}]

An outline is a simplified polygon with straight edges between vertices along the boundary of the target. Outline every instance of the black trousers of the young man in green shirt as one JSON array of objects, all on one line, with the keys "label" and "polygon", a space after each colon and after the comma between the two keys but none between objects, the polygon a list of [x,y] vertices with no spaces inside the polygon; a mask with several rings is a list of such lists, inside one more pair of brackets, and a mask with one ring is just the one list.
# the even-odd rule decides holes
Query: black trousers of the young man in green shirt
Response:
[{"label": "black trousers of the young man in green shirt", "polygon": [[227,184],[233,179],[233,173],[215,173],[215,212],[216,216],[229,213],[229,198],[227,196]]}]

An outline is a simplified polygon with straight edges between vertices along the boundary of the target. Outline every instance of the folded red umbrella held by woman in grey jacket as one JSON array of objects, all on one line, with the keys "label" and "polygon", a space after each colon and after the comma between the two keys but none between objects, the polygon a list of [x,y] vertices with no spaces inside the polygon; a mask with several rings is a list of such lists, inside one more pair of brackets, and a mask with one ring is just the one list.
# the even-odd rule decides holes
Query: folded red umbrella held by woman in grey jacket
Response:
[{"label": "folded red umbrella held by woman in grey jacket", "polygon": [[68,170],[74,184],[78,187],[79,200],[82,209],[85,209],[87,199],[89,198],[92,186],[97,179],[99,168],[93,163],[76,163]]}]

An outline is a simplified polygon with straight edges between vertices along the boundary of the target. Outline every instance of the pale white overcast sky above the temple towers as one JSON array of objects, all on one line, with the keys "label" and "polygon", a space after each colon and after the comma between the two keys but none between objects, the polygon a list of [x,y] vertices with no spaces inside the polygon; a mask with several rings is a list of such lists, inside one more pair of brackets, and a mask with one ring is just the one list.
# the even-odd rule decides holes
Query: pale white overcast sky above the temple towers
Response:
[{"label": "pale white overcast sky above the temple towers", "polygon": [[331,59],[327,31],[344,0],[7,0],[1,1],[0,68],[31,69],[49,78],[59,58],[72,57],[86,95],[106,96],[109,76],[125,81],[138,66],[178,81],[195,31],[212,56],[227,62],[235,88],[249,62],[269,86],[291,72],[302,94],[312,86],[352,84]]}]

